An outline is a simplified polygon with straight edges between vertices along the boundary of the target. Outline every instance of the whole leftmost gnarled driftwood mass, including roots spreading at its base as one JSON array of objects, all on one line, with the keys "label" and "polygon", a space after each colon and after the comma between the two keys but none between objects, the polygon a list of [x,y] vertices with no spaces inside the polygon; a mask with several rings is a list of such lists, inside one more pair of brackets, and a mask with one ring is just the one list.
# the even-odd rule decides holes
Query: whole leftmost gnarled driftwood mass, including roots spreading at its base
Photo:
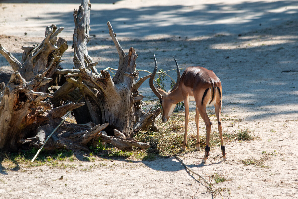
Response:
[{"label": "whole leftmost gnarled driftwood mass, including roots spreading at its base", "polygon": [[[56,100],[58,105],[53,108],[50,102],[44,101],[46,98],[53,97],[44,91],[48,89],[52,81],[51,77],[55,73],[66,74],[79,71],[58,69],[60,58],[68,48],[63,38],[57,41],[57,34],[61,30],[63,30],[62,27],[57,30],[55,25],[51,25],[46,28],[45,39],[40,45],[23,46],[21,62],[0,45],[0,53],[15,71],[7,85],[0,84],[0,149],[16,151],[21,144],[29,144],[29,146],[43,144],[64,114],[84,105],[84,103],[74,104],[73,102],[62,105],[58,98]],[[71,88],[75,89],[73,85]],[[69,90],[70,88],[67,91]],[[84,126],[64,123],[45,148],[65,147],[88,150],[87,143],[106,126],[107,124]],[[67,134],[61,133],[63,129]],[[72,133],[76,133],[76,136]]]}]

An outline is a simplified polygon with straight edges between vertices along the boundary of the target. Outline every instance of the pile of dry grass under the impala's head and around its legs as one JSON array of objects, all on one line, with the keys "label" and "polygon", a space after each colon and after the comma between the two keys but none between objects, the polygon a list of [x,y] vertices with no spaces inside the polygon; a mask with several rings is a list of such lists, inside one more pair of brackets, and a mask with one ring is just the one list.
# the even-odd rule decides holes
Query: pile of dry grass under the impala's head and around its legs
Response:
[{"label": "pile of dry grass under the impala's head and around its legs", "polygon": [[[209,117],[211,120],[216,120],[215,113],[209,112]],[[142,142],[149,142],[151,147],[147,151],[143,150],[143,154],[155,153],[156,155],[173,155],[180,151],[184,139],[184,113],[178,112],[173,113],[171,116],[171,121],[168,123],[162,123],[160,120],[156,122],[157,126],[160,128],[159,132],[143,131],[138,132],[135,136],[136,140]],[[194,121],[195,115],[190,114],[190,121]],[[227,116],[226,116],[227,117]],[[232,121],[238,121],[237,119],[230,119]],[[200,121],[202,121],[200,119]],[[239,120],[241,121],[241,120]],[[205,129],[203,129],[203,132]],[[238,130],[236,132],[223,132],[224,143],[238,140],[254,140],[249,129]],[[196,145],[196,134],[187,134],[187,146],[186,152],[195,150]],[[206,135],[200,136],[201,148],[204,149],[206,146]],[[210,135],[210,146],[220,146],[221,141],[219,133],[212,132]],[[134,156],[134,155],[133,155]],[[134,156],[136,157],[136,156]],[[142,156],[138,155],[137,158]]]}]

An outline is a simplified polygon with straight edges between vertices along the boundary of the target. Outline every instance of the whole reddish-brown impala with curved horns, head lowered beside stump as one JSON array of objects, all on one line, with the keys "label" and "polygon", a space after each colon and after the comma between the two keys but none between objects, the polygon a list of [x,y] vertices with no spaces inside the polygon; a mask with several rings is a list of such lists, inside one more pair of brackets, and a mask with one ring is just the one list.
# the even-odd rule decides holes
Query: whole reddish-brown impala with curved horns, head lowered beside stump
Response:
[{"label": "whole reddish-brown impala with curved horns, head lowered beside stump", "polygon": [[[153,53],[154,54],[154,53]],[[181,151],[184,151],[186,147],[186,136],[187,136],[187,125],[189,121],[189,102],[195,101],[195,124],[197,127],[197,142],[196,150],[200,150],[200,138],[199,138],[199,115],[203,118],[207,137],[206,137],[206,148],[205,155],[202,163],[206,163],[209,155],[210,147],[210,132],[211,132],[211,121],[206,112],[206,106],[214,105],[215,114],[218,124],[218,132],[221,139],[221,150],[223,161],[226,161],[225,146],[222,138],[222,127],[221,127],[221,81],[214,74],[212,70],[207,70],[203,67],[188,67],[184,70],[180,78],[179,66],[176,59],[174,58],[177,67],[177,82],[175,86],[165,92],[159,87],[154,86],[154,77],[157,71],[157,61],[154,54],[155,68],[150,76],[149,84],[154,94],[159,98],[160,104],[162,105],[162,121],[167,122],[176,107],[176,104],[183,101],[185,107],[185,129],[184,129],[184,141],[181,147]]]}]

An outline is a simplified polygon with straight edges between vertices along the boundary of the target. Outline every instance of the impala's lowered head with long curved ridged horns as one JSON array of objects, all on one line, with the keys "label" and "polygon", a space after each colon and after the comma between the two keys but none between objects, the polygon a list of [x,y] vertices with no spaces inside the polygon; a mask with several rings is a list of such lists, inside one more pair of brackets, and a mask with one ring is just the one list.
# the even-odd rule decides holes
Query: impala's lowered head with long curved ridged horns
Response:
[{"label": "impala's lowered head with long curved ridged horns", "polygon": [[171,88],[168,92],[165,92],[161,88],[156,87],[153,81],[154,81],[155,74],[157,72],[157,61],[154,53],[153,55],[154,55],[155,68],[153,70],[152,75],[150,76],[149,84],[154,94],[159,98],[160,104],[162,105],[162,122],[165,123],[169,120],[174,108],[176,107],[176,104],[178,103],[175,95],[171,95],[171,92],[178,87],[179,80],[180,80],[180,71],[179,71],[179,66],[177,64],[177,61],[173,57],[177,67],[177,81],[175,86]]}]

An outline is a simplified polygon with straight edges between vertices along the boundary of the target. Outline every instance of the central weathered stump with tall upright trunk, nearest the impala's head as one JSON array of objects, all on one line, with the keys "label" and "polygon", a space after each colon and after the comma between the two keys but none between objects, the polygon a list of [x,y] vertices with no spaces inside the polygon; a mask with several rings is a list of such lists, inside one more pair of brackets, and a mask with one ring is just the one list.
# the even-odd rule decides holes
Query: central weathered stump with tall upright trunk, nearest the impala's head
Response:
[{"label": "central weathered stump with tall upright trunk, nearest the impala's head", "polygon": [[61,100],[75,101],[79,95],[74,88],[78,88],[80,94],[84,96],[82,101],[86,106],[73,111],[77,122],[109,123],[105,129],[108,135],[113,135],[114,129],[120,130],[128,137],[132,137],[139,130],[158,131],[155,120],[161,109],[149,113],[143,112],[141,104],[143,96],[138,92],[140,85],[150,75],[137,81],[138,71],[135,64],[137,54],[132,47],[128,55],[124,53],[109,22],[107,23],[109,35],[119,54],[118,70],[112,79],[107,71],[101,71],[99,74],[95,69],[97,62],[92,61],[87,51],[90,8],[91,4],[86,0],[82,2],[79,10],[74,11],[75,32],[72,48],[74,48],[75,69],[80,71],[66,75],[67,83],[53,93],[54,97],[50,101],[54,107],[59,105]]}]

